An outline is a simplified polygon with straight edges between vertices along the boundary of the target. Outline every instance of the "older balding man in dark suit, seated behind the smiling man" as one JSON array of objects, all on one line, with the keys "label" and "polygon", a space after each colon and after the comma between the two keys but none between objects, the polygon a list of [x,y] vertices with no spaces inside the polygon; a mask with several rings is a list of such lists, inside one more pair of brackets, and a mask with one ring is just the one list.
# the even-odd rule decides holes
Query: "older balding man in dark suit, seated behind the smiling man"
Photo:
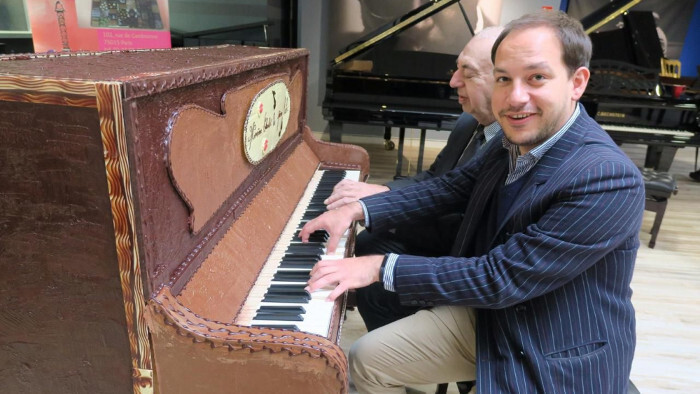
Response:
[{"label": "older balding man in dark suit, seated behind the smiling man", "polygon": [[[469,161],[474,154],[501,129],[491,111],[493,92],[493,63],[491,47],[503,30],[488,27],[467,43],[457,57],[457,69],[450,86],[457,91],[464,113],[450,133],[447,144],[427,171],[410,177],[374,185],[350,180],[341,181],[326,200],[328,209],[357,201],[388,190],[396,190],[439,177]],[[462,213],[448,213],[413,226],[400,226],[386,231],[363,231],[355,242],[355,255],[398,253],[420,256],[442,256],[450,252],[462,222]],[[380,283],[357,289],[357,308],[372,331],[402,317],[415,313],[420,307],[402,305],[393,292]]]}]

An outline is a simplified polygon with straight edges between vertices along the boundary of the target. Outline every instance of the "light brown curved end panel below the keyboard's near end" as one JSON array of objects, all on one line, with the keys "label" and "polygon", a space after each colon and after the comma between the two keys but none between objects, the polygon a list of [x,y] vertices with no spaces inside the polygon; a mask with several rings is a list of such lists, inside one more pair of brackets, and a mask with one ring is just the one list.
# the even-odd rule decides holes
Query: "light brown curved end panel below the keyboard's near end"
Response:
[{"label": "light brown curved end panel below the keyboard's near end", "polygon": [[149,301],[147,319],[161,393],[348,392],[345,355],[324,338],[206,319],[167,287]]}]

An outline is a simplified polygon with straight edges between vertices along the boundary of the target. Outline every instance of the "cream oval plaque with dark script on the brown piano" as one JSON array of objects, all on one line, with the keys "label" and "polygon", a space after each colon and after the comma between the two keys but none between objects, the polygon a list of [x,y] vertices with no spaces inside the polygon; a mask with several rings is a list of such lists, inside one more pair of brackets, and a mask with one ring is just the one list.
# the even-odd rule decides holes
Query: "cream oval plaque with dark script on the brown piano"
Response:
[{"label": "cream oval plaque with dark script on the brown piano", "polygon": [[272,152],[289,122],[289,90],[282,81],[261,90],[248,108],[243,125],[245,155],[252,164],[258,164]]}]

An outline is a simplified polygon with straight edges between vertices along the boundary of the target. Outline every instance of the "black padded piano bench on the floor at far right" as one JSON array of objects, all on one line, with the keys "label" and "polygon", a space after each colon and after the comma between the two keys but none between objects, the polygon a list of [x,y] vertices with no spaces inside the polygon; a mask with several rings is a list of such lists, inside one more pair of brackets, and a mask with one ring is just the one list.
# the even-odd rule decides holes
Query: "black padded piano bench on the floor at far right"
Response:
[{"label": "black padded piano bench on the floor at far right", "polygon": [[644,177],[644,190],[646,200],[644,209],[655,213],[654,224],[651,227],[651,239],[649,247],[656,244],[656,236],[661,228],[661,221],[664,219],[666,205],[672,194],[678,193],[678,186],[673,176],[667,172],[655,171],[649,168],[640,168]]}]

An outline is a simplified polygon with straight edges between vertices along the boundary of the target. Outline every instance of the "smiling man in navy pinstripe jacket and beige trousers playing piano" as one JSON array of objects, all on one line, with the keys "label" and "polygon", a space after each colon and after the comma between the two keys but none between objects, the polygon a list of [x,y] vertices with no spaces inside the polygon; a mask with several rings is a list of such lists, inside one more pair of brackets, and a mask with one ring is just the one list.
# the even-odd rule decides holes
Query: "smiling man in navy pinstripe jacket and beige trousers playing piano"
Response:
[{"label": "smiling man in navy pinstripe jacket and beige trousers playing piano", "polygon": [[[624,393],[635,346],[629,287],[644,188],[578,104],[590,40],[560,12],[509,23],[492,50],[503,127],[468,165],[309,222],[331,234],[464,211],[451,256],[322,261],[308,289],[375,281],[426,308],[353,345],[360,392],[476,377],[479,393]],[[476,257],[465,257],[476,256]],[[476,316],[476,317],[475,317]]]}]

